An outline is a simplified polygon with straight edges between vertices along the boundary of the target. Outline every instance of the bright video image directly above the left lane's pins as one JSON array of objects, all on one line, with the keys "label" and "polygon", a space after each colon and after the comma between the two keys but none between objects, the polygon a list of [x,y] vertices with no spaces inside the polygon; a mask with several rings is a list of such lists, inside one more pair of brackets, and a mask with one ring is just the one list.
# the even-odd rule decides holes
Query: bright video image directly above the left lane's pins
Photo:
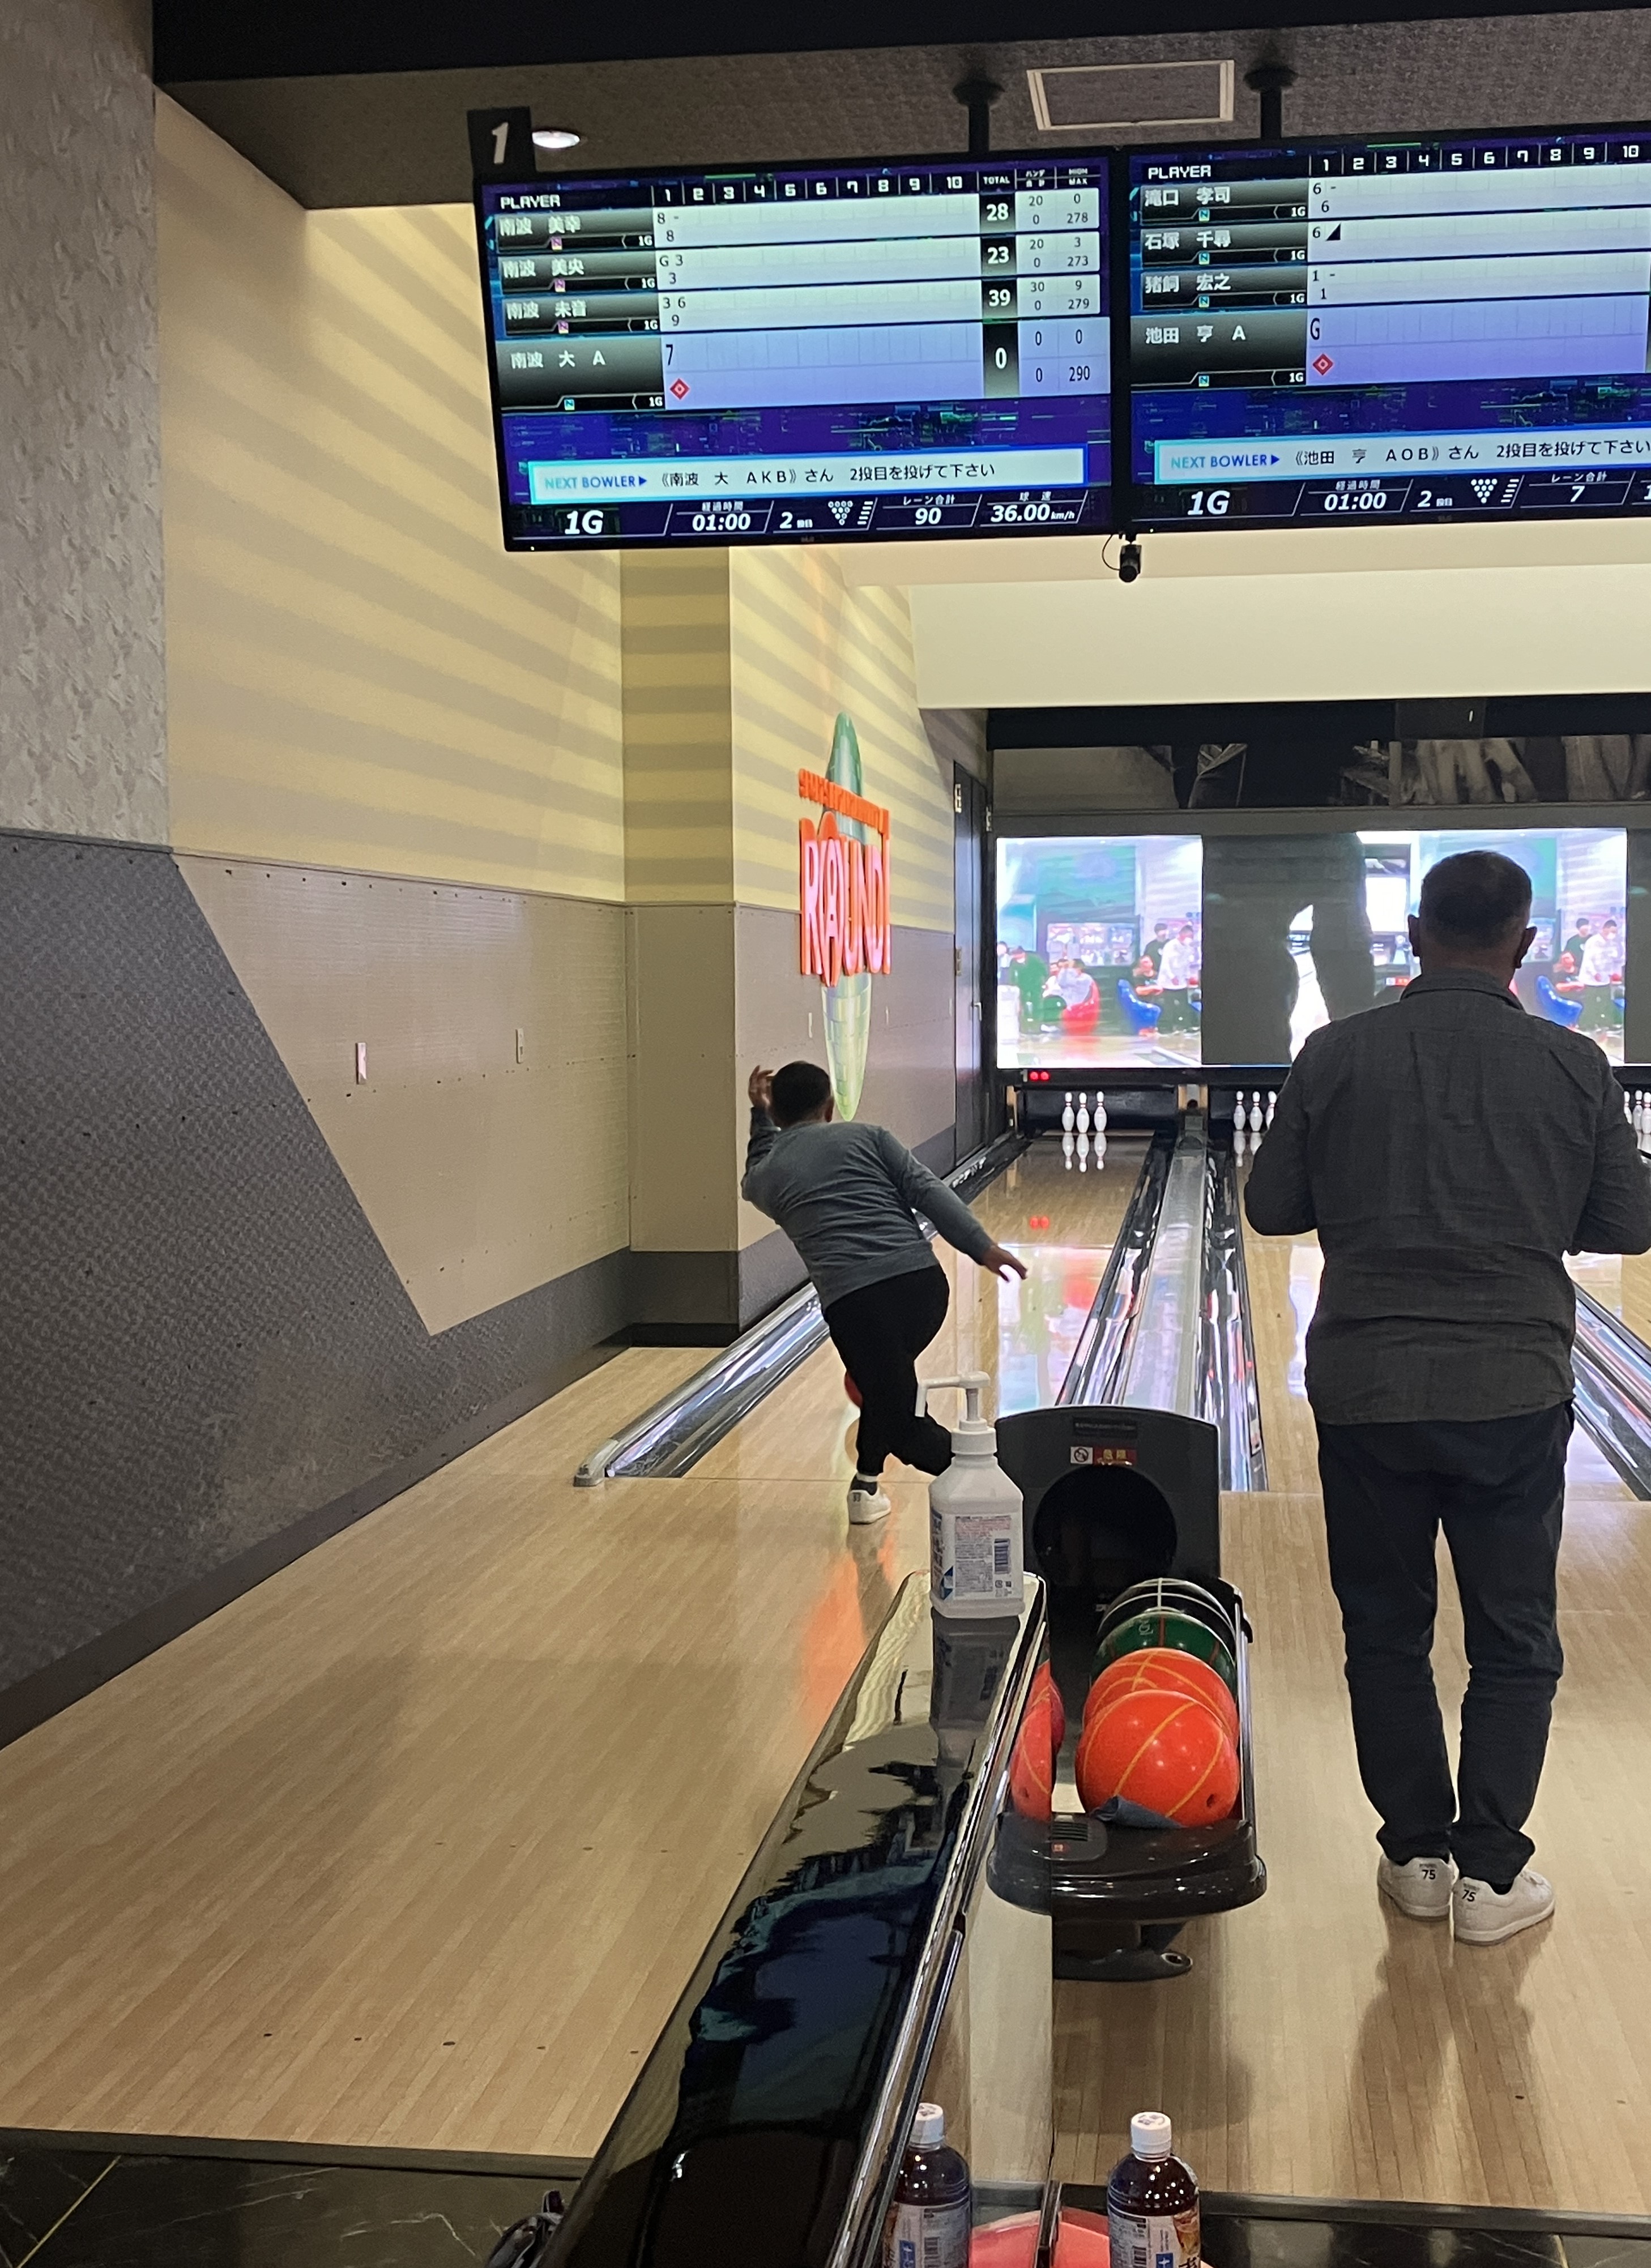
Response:
[{"label": "bright video image directly above the left lane's pins", "polygon": [[1197,835],[998,839],[998,1066],[1197,1064]]}]

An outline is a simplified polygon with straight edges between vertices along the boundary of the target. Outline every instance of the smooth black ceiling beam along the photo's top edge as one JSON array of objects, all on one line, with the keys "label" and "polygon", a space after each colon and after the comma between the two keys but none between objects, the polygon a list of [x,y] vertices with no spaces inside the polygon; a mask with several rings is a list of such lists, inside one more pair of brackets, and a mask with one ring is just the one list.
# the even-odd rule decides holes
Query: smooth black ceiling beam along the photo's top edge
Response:
[{"label": "smooth black ceiling beam along the photo's top edge", "polygon": [[[1322,20],[1322,0],[1275,0],[1275,25]],[[1340,0],[1340,23],[1442,16],[1553,14],[1551,0]],[[796,45],[971,48],[1005,41],[1093,39],[1093,0],[826,0],[796,18]],[[1111,0],[1107,36],[1243,29],[1254,0]],[[678,54],[771,54],[787,25],[748,0],[630,0],[628,7],[547,7],[544,0],[154,0],[154,77],[272,79],[376,70],[474,70],[531,64],[603,64]]]}]

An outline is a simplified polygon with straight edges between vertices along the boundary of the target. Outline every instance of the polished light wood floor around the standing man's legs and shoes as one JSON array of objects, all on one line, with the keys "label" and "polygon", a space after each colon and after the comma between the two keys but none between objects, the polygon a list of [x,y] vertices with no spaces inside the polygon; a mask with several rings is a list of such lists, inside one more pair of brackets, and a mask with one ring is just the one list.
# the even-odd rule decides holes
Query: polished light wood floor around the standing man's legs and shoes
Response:
[{"label": "polished light wood floor around the standing man's legs and shoes", "polygon": [[[1374,1889],[1302,1386],[1318,1266],[1311,1236],[1247,1236],[1275,1490],[1222,1510],[1227,1572],[1256,1631],[1268,1894],[1184,1932],[1184,1980],[1057,1984],[1059,2170],[1104,2180],[1123,2121],[1152,2100],[1172,2105],[1211,2189],[1644,2214],[1651,1789],[1637,1751],[1651,1717],[1651,1506],[1576,1436],[1560,1560],[1567,1674],[1531,1823],[1558,1912],[1508,1946],[1458,1950]],[[1644,1270],[1626,1263],[1628,1297]],[[1449,1719],[1465,1662],[1447,1576],[1440,1597]]]}]

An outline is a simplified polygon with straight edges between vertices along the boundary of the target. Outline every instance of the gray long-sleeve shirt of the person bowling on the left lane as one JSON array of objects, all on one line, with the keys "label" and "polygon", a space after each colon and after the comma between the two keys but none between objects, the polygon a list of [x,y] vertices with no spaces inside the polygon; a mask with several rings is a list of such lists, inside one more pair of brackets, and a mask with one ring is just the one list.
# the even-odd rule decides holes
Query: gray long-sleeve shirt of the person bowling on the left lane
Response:
[{"label": "gray long-sleeve shirt of the person bowling on the left lane", "polygon": [[853,1118],[830,1125],[812,1118],[780,1132],[767,1111],[753,1109],[739,1188],[803,1254],[821,1306],[884,1277],[939,1268],[914,1213],[975,1261],[991,1245],[964,1200],[887,1127]]}]

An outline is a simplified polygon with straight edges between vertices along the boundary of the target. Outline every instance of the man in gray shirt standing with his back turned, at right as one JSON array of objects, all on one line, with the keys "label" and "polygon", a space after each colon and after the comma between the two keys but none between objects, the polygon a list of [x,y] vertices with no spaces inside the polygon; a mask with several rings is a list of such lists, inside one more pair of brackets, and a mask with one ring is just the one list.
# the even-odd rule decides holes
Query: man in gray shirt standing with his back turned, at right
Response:
[{"label": "man in gray shirt standing with his back turned, at right", "polygon": [[[1563,1669],[1565,1254],[1651,1247],[1610,1064],[1510,989],[1529,912],[1529,875],[1495,850],[1431,869],[1422,975],[1304,1043],[1245,1198],[1263,1236],[1318,1229],[1324,1252],[1306,1393],[1377,1878],[1476,1944],[1553,1905],[1524,1821]],[[1429,1662],[1440,1526],[1472,1665],[1456,1787]]]}]

